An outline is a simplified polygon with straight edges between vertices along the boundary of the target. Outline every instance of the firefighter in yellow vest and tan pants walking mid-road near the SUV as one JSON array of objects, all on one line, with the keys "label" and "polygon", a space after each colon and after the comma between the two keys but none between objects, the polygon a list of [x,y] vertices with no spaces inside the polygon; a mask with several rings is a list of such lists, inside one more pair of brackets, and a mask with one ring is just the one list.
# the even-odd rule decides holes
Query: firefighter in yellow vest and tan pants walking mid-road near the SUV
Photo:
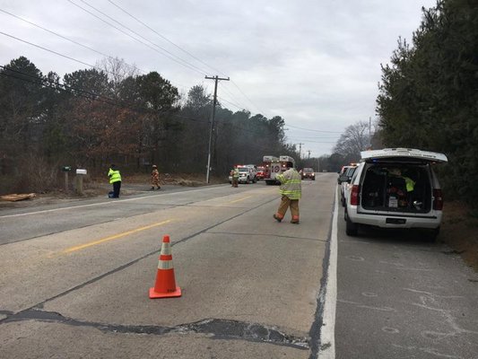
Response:
[{"label": "firefighter in yellow vest and tan pants walking mid-road near the SUV", "polygon": [[299,199],[302,195],[300,174],[292,167],[292,163],[288,164],[288,170],[275,177],[281,182],[279,192],[281,193],[281,205],[274,215],[277,222],[282,222],[283,216],[287,212],[287,208],[291,208],[291,223],[299,224]]}]

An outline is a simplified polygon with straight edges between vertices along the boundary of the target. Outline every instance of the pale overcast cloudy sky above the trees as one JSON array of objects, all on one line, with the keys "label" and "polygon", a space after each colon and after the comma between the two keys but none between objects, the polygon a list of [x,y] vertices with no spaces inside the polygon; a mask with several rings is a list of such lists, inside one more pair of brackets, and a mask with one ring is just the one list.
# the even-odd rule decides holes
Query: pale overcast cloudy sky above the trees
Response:
[{"label": "pale overcast cloudy sky above the trees", "polygon": [[345,127],[376,117],[380,64],[389,62],[399,37],[412,39],[422,6],[435,3],[0,0],[0,65],[24,56],[43,74],[63,76],[104,54],[142,73],[157,71],[183,93],[196,84],[213,92],[204,76],[229,76],[218,91],[223,107],[282,116],[289,143],[317,157],[332,153]]}]

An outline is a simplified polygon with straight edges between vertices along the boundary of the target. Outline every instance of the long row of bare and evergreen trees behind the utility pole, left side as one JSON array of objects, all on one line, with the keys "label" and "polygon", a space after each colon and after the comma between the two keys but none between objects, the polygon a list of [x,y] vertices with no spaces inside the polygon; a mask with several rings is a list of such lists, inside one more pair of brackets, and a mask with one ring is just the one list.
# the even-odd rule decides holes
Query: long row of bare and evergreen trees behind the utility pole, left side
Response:
[{"label": "long row of bare and evergreen trees behind the utility pole, left side", "polygon": [[[0,175],[2,191],[55,185],[61,166],[103,173],[123,171],[204,173],[212,133],[211,175],[234,163],[259,163],[265,154],[289,154],[282,117],[251,115],[216,105],[201,85],[187,94],[157,72],[138,74],[120,59],[60,78],[44,75],[26,57],[0,66]],[[45,178],[44,180],[41,180]]]}]

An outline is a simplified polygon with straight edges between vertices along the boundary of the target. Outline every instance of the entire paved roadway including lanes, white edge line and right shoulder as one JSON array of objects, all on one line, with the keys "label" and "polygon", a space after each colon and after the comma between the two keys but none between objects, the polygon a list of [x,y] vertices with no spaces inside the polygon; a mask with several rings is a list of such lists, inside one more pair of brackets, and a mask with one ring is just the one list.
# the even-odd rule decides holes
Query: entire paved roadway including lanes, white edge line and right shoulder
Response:
[{"label": "entire paved roadway including lanes, white edge line and right shoulder", "polygon": [[[136,189],[0,209],[0,357],[478,358],[477,274],[347,237],[334,173],[302,182],[300,225],[264,182]],[[151,300],[165,234],[182,296]]]}]

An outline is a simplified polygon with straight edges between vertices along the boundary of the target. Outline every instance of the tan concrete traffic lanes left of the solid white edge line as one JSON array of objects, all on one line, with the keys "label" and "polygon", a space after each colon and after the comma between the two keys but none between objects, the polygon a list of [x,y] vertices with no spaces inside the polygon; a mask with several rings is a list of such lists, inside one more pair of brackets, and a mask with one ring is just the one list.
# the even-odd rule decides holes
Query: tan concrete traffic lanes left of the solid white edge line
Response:
[{"label": "tan concrete traffic lanes left of the solid white edge line", "polygon": [[[3,210],[0,356],[317,357],[335,184],[300,225],[264,182]],[[151,300],[165,234],[182,296]]]}]

